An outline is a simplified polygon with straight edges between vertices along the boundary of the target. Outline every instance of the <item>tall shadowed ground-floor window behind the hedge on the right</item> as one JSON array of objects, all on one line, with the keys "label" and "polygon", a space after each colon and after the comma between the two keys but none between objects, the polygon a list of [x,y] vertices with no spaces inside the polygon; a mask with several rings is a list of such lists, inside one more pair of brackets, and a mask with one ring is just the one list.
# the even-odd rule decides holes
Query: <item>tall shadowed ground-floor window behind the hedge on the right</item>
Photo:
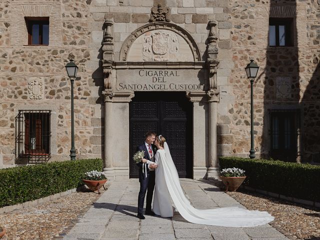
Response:
[{"label": "tall shadowed ground-floor window behind the hedge on the right", "polygon": [[270,157],[283,161],[300,159],[300,111],[269,110]]}]

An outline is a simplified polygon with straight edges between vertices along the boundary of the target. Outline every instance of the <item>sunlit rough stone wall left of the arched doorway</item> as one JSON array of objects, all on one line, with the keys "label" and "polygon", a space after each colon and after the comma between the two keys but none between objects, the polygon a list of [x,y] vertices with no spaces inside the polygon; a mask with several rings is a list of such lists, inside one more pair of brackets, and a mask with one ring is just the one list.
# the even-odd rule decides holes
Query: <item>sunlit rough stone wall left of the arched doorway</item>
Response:
[{"label": "sunlit rough stone wall left of the arched doorway", "polygon": [[[91,4],[89,0],[1,1],[0,166],[15,163],[15,116],[19,109],[51,110],[51,126],[55,127],[51,127],[50,160],[69,159],[70,81],[64,65],[70,58],[79,67],[74,82],[77,158],[101,157],[103,79],[97,53],[91,49]],[[49,17],[48,46],[26,45],[24,16]],[[42,82],[39,99],[31,99],[29,86],[34,79]]]}]

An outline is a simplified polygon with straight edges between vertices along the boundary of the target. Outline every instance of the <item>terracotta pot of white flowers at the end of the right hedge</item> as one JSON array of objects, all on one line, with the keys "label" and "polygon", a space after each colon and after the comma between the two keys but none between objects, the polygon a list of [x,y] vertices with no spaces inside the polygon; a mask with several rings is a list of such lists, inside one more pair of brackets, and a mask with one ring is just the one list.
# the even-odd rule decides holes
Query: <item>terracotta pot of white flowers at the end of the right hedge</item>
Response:
[{"label": "terracotta pot of white flowers at the end of the right hedge", "polygon": [[244,170],[240,168],[223,168],[220,178],[225,185],[225,192],[236,191],[245,179]]}]

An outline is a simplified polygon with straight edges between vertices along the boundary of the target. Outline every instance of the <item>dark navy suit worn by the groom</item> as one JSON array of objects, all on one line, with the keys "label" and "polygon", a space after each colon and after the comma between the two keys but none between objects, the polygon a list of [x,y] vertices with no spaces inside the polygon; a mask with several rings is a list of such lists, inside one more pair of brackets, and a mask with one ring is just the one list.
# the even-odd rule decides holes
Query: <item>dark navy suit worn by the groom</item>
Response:
[{"label": "dark navy suit worn by the groom", "polygon": [[[156,152],[156,146],[151,144],[152,149],[152,157],[154,158],[154,154]],[[150,159],[148,149],[143,142],[143,144],[139,145],[136,148],[136,151],[144,151],[144,158],[152,161],[153,159]],[[153,160],[154,161],[154,160]],[[150,171],[148,168],[148,164],[146,167],[146,177],[145,173],[142,172],[142,165],[143,163],[140,161],[136,163],[136,165],[139,167],[139,182],[140,182],[140,191],[138,195],[138,213],[142,214],[143,211],[143,203],[144,203],[144,196],[146,193],[146,205],[145,205],[145,211],[151,211],[151,202],[152,202],[152,195],[153,195],[153,189],[154,189],[154,181],[155,181],[155,174],[154,170]]]}]

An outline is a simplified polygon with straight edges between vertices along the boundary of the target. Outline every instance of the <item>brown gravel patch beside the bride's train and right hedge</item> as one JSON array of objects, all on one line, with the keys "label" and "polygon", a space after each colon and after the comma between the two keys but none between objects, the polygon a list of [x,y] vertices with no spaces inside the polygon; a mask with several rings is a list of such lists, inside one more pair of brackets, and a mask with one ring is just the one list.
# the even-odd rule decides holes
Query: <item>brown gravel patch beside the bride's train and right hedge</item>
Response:
[{"label": "brown gravel patch beside the bride's train and right hedge", "polygon": [[320,208],[242,190],[228,194],[250,210],[268,211],[274,216],[270,224],[289,238],[320,240]]}]

